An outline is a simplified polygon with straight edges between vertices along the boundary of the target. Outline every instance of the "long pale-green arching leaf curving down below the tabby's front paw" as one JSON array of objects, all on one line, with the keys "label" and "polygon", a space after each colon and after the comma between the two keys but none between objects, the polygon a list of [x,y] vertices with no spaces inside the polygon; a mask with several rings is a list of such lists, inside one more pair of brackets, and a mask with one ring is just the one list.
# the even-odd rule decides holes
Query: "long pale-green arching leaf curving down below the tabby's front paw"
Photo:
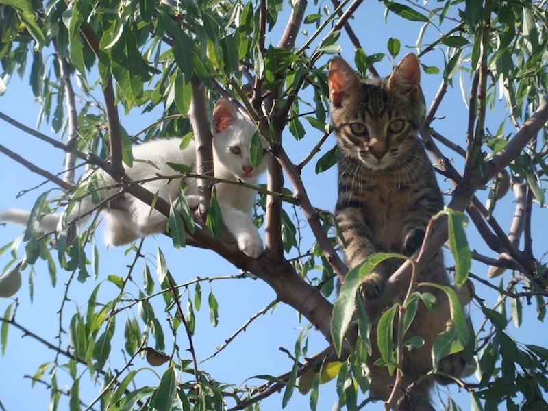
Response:
[{"label": "long pale-green arching leaf curving down below the tabby's front paw", "polygon": [[333,336],[333,345],[337,354],[340,356],[343,347],[343,340],[350,325],[353,316],[356,291],[367,274],[371,272],[381,262],[388,258],[403,258],[400,254],[376,253],[368,256],[360,266],[356,266],[345,277],[343,286],[340,287],[340,294],[333,308],[333,318],[331,332]]}]

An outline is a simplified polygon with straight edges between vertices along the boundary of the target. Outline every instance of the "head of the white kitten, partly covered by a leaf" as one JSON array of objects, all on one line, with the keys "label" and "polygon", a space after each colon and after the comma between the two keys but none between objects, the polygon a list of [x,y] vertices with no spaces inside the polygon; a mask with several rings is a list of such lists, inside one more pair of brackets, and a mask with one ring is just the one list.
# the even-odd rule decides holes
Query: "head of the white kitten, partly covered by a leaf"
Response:
[{"label": "head of the white kitten, partly covered by a leaf", "polygon": [[[259,134],[263,155],[258,166],[251,165],[249,148],[251,139],[257,133],[257,127],[240,119],[230,101],[221,98],[213,110],[213,146],[216,153],[215,174],[222,165],[243,182],[254,180],[266,170],[266,150],[269,145]],[[220,162],[221,164],[218,164]]]}]

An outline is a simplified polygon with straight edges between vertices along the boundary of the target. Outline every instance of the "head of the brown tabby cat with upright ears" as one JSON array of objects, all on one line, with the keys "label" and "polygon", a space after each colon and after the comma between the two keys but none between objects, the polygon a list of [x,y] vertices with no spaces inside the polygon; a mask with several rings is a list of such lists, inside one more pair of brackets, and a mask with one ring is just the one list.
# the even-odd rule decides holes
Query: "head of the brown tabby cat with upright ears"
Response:
[{"label": "head of the brown tabby cat with upright ears", "polygon": [[397,166],[416,140],[422,106],[419,59],[409,53],[388,80],[362,83],[340,57],[329,62],[331,116],[343,155],[369,169]]}]

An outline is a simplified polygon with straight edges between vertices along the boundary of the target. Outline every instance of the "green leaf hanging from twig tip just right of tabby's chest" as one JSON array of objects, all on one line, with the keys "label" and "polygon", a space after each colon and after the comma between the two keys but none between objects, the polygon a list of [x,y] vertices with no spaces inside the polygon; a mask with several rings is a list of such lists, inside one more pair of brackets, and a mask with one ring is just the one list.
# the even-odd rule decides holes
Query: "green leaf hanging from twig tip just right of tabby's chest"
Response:
[{"label": "green leaf hanging from twig tip just right of tabby's chest", "polygon": [[455,282],[464,284],[472,267],[472,252],[464,232],[464,227],[468,224],[468,217],[462,212],[447,207],[443,209],[443,213],[447,214],[449,223],[449,247],[455,260]]}]

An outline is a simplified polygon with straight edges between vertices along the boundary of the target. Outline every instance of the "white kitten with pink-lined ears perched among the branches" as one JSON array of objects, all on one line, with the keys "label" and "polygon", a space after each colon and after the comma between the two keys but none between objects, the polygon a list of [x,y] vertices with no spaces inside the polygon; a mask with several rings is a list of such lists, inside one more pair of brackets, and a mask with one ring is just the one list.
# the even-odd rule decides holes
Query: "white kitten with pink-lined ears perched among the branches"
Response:
[{"label": "white kitten with pink-lined ears perched among the branches", "polygon": [[[213,111],[213,162],[216,178],[242,181],[255,186],[258,177],[266,170],[266,155],[262,156],[260,164],[251,165],[249,149],[251,138],[257,132],[256,126],[238,118],[232,104],[221,98]],[[260,137],[264,153],[268,145]],[[151,179],[157,175],[174,175],[175,171],[166,163],[184,164],[196,171],[195,142],[184,150],[179,147],[181,138],[153,140],[134,147],[133,154],[136,160],[133,166],[126,169],[126,174],[133,181]],[[105,186],[114,181],[101,172],[99,184],[104,181]],[[190,208],[198,206],[198,191],[195,179],[155,179],[144,182],[143,187],[155,193],[158,197],[173,202],[177,199],[179,188],[187,186],[186,200]],[[253,224],[251,212],[256,199],[256,192],[229,183],[216,183],[216,196],[221,208],[223,223],[229,232],[236,238],[238,247],[247,256],[257,257],[264,247],[260,235]],[[106,191],[106,193],[105,193]],[[101,197],[114,195],[118,190],[111,188],[99,190]],[[105,219],[105,242],[108,245],[122,245],[149,234],[165,232],[168,219],[157,210],[151,211],[151,206],[135,197],[123,195],[123,205],[127,211],[103,210]],[[66,221],[71,221],[79,214],[84,214],[95,206],[91,196],[87,195],[69,213]],[[0,211],[0,221],[26,225],[30,217],[28,210],[7,209]],[[62,214],[47,214],[40,221],[39,229],[43,232],[53,232],[57,229]],[[81,219],[81,221],[84,218]]]}]

